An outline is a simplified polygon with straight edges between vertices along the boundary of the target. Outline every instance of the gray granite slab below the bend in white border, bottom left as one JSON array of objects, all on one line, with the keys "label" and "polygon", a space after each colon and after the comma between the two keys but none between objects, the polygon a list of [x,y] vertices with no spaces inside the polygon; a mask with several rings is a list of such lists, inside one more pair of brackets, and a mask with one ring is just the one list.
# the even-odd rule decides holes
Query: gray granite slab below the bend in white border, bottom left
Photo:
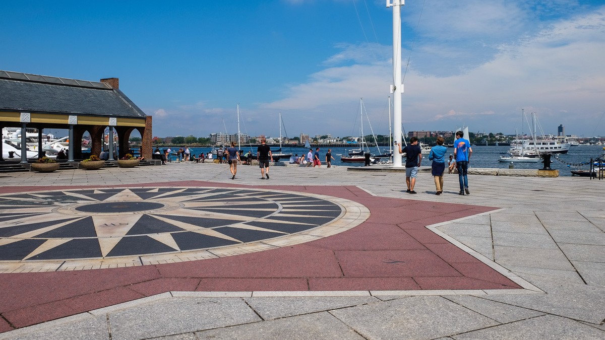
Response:
[{"label": "gray granite slab below the bend in white border, bottom left", "polygon": [[172,298],[109,315],[112,340],[147,339],[261,319],[240,298]]}]

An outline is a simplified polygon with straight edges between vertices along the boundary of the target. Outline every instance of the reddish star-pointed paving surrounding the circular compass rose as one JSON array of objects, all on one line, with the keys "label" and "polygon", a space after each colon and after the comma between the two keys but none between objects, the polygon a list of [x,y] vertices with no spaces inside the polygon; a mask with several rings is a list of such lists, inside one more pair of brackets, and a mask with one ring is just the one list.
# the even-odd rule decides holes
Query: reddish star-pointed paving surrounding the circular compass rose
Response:
[{"label": "reddish star-pointed paving surrounding the circular compass rose", "polygon": [[[211,260],[0,274],[0,332],[168,291],[520,288],[425,226],[496,208],[374,197],[355,186],[254,187],[179,181],[123,185],[271,188],[357,201],[359,226],[309,243]],[[0,193],[94,186],[0,188]],[[10,322],[10,324],[7,323]]]}]

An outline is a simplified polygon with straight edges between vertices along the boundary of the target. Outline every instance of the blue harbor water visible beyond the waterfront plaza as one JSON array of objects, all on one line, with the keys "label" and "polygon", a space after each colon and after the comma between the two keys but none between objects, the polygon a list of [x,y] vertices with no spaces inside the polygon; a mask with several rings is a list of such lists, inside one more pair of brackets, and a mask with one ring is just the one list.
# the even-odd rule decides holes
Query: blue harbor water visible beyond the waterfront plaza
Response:
[{"label": "blue harbor water visible beyond the waterfront plaza", "polygon": [[[162,149],[162,148],[160,148]],[[172,151],[178,150],[178,147],[172,147]],[[189,148],[193,154],[199,155],[200,152],[211,151],[211,148]],[[244,146],[241,148],[244,153],[252,150],[252,152],[256,153],[256,148],[249,146]],[[276,148],[272,148],[276,149]],[[348,148],[331,148],[332,149],[332,157],[335,160],[332,161],[333,166],[364,166],[364,163],[342,163],[340,158],[341,155],[346,156],[348,154]],[[498,162],[501,156],[507,156],[509,146],[481,146],[476,145],[473,146],[473,155],[471,156],[471,162],[469,166],[471,168],[501,168],[508,169],[510,162]],[[298,154],[298,155],[306,155],[309,152],[309,149],[305,148],[289,148],[284,146],[282,148],[284,154]],[[315,148],[313,148],[315,151]],[[319,154],[321,155],[321,161],[324,163],[325,161],[325,153],[328,151],[328,148],[320,148]],[[373,154],[378,154],[378,150],[376,148],[370,148],[370,152]],[[388,152],[388,148],[381,147],[381,153]],[[448,154],[453,154],[454,149],[448,148]],[[554,154],[551,158],[552,164],[551,169],[557,169],[559,171],[559,175],[561,176],[571,176],[571,170],[576,169],[589,169],[588,165],[577,166],[580,163],[588,163],[590,159],[596,159],[600,155],[605,153],[603,150],[603,146],[601,145],[580,145],[580,146],[572,146],[569,149],[567,154]],[[428,155],[423,155],[422,166],[430,166],[431,162],[428,160]],[[404,160],[405,162],[405,160]],[[515,169],[541,169],[543,168],[543,163],[514,163]]]}]

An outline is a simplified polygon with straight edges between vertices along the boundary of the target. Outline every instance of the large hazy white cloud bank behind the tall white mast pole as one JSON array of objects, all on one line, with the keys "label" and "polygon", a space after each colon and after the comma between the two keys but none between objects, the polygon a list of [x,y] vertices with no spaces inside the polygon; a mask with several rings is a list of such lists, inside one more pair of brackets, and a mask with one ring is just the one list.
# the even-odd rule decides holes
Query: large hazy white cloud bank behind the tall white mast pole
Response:
[{"label": "large hazy white cloud bank behind the tall white mast pole", "polygon": [[[467,27],[460,23],[458,27],[479,30],[482,25],[471,28],[472,24]],[[411,64],[404,82],[404,125],[406,129],[451,129],[467,123],[512,133],[520,125],[521,108],[532,108],[547,131],[563,123],[567,131],[580,134],[590,125],[587,122],[591,117],[603,112],[604,33],[603,12],[594,11],[553,22],[532,36],[524,34],[523,38],[499,44],[488,61],[458,74],[425,74]],[[383,56],[382,62],[368,62],[370,57],[360,56],[363,45],[341,48],[344,50],[330,57],[326,65],[339,60],[358,63],[312,74],[309,82],[290,85],[283,99],[260,107],[297,111],[312,118],[329,116],[334,125],[325,125],[330,129],[348,128],[355,114],[350,109],[355,108],[359,97],[364,97],[368,111],[384,114],[382,101],[391,82],[390,60]],[[365,53],[370,55],[367,50]]]}]

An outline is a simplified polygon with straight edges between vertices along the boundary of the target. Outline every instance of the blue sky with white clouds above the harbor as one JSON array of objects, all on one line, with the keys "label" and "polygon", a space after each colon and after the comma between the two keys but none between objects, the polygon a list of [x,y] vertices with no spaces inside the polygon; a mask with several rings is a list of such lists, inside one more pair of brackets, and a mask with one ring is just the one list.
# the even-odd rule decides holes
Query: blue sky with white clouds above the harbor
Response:
[{"label": "blue sky with white clouds above the harbor", "polygon": [[[0,70],[99,80],[153,116],[154,136],[358,136],[359,98],[388,133],[385,0],[3,1]],[[406,1],[406,131],[605,136],[603,1]],[[369,131],[367,123],[364,132]],[[525,128],[526,131],[526,128]]]}]

